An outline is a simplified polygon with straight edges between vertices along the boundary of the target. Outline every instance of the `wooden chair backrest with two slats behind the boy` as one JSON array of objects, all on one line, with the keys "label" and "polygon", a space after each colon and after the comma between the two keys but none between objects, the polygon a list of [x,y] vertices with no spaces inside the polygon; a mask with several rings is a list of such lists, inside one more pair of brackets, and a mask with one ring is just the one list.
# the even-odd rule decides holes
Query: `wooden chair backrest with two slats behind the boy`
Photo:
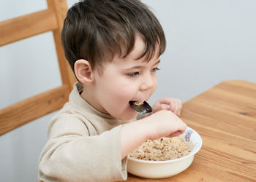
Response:
[{"label": "wooden chair backrest with two slats behind the boy", "polygon": [[[14,41],[53,31],[62,84],[0,110],[0,135],[56,111],[67,102],[75,76],[61,45],[61,29],[67,14],[66,0],[47,0],[48,9],[0,22],[0,47]],[[19,31],[16,31],[19,30]]]}]

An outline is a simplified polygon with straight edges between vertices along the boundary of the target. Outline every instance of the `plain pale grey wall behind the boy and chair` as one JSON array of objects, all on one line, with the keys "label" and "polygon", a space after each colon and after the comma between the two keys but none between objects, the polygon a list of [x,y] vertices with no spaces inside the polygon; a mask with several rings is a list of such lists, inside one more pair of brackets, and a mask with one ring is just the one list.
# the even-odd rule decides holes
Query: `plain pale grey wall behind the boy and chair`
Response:
[{"label": "plain pale grey wall behind the boy and chair", "polygon": [[[76,1],[67,2],[71,7]],[[143,2],[167,38],[150,103],[165,96],[185,102],[229,79],[256,82],[255,0]],[[44,0],[1,0],[0,20],[45,8]],[[0,63],[0,108],[61,84],[52,33],[1,47]],[[37,161],[53,114],[1,136],[0,181],[37,181]]]}]

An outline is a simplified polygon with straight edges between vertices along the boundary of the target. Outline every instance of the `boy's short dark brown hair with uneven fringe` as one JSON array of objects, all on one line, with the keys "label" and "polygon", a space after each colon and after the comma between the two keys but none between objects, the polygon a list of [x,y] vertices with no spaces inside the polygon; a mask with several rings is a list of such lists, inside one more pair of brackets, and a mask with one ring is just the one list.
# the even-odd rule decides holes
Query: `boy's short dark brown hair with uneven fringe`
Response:
[{"label": "boy's short dark brown hair with uneven fringe", "polygon": [[[67,12],[61,33],[64,52],[74,71],[76,60],[85,59],[92,69],[113,56],[127,56],[138,34],[146,47],[146,60],[165,51],[165,33],[157,17],[139,0],[83,0]],[[159,47],[159,49],[157,49]],[[138,58],[139,59],[139,58]]]}]

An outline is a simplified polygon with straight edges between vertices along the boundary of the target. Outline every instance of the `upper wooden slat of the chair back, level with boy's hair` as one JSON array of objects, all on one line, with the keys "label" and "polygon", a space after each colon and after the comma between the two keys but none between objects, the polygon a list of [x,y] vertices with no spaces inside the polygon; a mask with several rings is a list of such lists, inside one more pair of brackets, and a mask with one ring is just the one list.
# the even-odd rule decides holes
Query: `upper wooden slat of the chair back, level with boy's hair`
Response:
[{"label": "upper wooden slat of the chair back, level with boy's hair", "polygon": [[0,22],[0,46],[58,28],[52,8]]}]

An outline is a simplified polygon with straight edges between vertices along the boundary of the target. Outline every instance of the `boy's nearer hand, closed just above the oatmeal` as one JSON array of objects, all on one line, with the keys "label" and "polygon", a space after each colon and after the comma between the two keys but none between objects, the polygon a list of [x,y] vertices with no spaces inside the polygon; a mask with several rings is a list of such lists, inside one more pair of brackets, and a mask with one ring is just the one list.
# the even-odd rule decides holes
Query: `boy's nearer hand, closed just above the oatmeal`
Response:
[{"label": "boy's nearer hand, closed just above the oatmeal", "polygon": [[171,111],[158,111],[143,120],[145,121],[148,140],[178,136],[187,129],[187,124]]}]

